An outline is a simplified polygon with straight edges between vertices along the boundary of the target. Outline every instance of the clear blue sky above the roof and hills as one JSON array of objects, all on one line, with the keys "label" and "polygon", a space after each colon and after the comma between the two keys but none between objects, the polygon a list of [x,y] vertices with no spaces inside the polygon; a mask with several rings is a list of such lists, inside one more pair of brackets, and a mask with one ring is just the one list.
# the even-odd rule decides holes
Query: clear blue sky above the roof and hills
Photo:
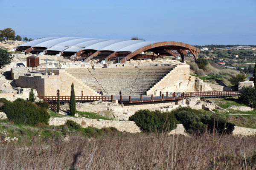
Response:
[{"label": "clear blue sky above the roof and hills", "polygon": [[0,0],[0,29],[91,37],[256,45],[256,0]]}]

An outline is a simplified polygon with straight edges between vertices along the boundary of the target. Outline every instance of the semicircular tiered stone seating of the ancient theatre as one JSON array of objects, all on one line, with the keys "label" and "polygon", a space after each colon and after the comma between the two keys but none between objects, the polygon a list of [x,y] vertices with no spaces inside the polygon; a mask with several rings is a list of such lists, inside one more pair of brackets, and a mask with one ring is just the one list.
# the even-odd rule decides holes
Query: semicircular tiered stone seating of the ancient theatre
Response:
[{"label": "semicircular tiered stone seating of the ancient theatre", "polygon": [[68,68],[66,71],[95,91],[104,95],[145,95],[152,86],[166,76],[174,66],[140,68]]}]

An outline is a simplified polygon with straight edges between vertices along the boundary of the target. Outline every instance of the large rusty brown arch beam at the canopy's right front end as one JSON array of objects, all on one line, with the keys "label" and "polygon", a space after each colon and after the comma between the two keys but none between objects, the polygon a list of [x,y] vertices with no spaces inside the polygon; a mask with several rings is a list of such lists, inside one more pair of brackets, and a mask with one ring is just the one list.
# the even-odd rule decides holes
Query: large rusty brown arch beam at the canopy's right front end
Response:
[{"label": "large rusty brown arch beam at the canopy's right front end", "polygon": [[128,59],[131,59],[132,57],[136,56],[137,54],[140,54],[143,51],[146,51],[151,48],[156,48],[156,47],[161,47],[161,46],[175,46],[175,48],[179,48],[182,50],[193,50],[196,51],[197,53],[200,52],[200,50],[192,45],[183,43],[183,42],[176,42],[176,41],[165,41],[165,42],[157,42],[151,45],[146,45],[145,47],[142,47],[131,54],[128,54],[126,57],[120,60],[121,63],[124,63]]}]

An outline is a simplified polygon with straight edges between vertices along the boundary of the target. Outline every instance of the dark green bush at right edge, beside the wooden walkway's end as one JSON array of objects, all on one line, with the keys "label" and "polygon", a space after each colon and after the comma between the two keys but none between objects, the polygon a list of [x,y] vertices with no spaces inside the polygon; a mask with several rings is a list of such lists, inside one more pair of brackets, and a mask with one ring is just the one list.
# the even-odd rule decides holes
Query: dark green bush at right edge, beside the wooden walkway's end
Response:
[{"label": "dark green bush at right edge, beside the wooden walkway's end", "polygon": [[239,99],[241,103],[256,108],[256,90],[255,88],[245,87],[241,90]]}]

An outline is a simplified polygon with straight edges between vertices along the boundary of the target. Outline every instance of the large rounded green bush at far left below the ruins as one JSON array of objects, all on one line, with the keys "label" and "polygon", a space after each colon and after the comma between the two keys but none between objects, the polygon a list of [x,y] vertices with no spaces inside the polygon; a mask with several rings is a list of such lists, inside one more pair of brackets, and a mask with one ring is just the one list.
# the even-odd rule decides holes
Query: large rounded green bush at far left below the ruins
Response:
[{"label": "large rounded green bush at far left below the ruins", "polygon": [[48,124],[50,115],[46,109],[23,100],[16,99],[3,105],[8,119],[16,124],[36,125],[38,122]]}]

